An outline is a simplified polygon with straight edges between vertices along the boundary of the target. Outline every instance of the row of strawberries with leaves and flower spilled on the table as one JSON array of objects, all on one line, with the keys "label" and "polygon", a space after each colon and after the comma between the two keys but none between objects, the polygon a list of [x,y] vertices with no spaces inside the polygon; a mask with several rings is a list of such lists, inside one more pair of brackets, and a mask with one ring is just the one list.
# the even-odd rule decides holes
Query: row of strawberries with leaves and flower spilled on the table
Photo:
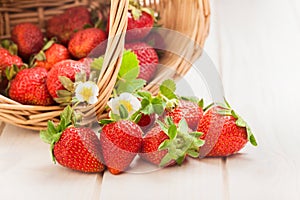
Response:
[{"label": "row of strawberries with leaves and flower spilled on the table", "polygon": [[248,141],[257,145],[248,124],[226,101],[203,109],[203,100],[176,95],[172,80],[159,88],[156,96],[141,89],[115,91],[100,129],[80,126],[76,111],[66,107],[61,122],[50,121],[40,136],[62,166],[82,172],[107,168],[112,174],[128,170],[134,159],[169,167],[188,157],[230,156]]}]

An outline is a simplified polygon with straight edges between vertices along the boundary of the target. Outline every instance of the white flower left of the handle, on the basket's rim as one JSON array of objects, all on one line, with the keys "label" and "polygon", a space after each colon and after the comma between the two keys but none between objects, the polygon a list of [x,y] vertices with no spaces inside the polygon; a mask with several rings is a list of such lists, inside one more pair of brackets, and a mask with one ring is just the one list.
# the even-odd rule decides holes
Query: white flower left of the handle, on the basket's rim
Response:
[{"label": "white flower left of the handle, on the basket's rim", "polygon": [[75,97],[79,102],[87,102],[88,104],[95,104],[99,87],[92,81],[79,82],[75,89]]}]

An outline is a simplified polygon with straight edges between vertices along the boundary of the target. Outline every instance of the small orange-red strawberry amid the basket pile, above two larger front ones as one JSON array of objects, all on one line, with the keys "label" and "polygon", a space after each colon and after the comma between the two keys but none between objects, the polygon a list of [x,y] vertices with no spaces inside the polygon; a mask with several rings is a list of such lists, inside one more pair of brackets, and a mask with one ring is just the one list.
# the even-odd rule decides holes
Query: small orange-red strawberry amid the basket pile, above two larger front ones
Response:
[{"label": "small orange-red strawberry amid the basket pile, above two larger front ones", "polygon": [[44,67],[48,71],[54,64],[70,58],[68,49],[61,44],[52,44],[51,47],[44,52],[44,56],[45,60],[36,61],[36,67]]}]

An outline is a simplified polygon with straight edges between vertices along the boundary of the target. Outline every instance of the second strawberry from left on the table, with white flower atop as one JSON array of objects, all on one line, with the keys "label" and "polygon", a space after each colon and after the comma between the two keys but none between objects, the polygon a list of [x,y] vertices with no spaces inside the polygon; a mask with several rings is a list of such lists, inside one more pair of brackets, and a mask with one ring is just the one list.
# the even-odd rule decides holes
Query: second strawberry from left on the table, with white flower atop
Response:
[{"label": "second strawberry from left on the table, with white flower atop", "polygon": [[103,159],[112,174],[120,174],[129,168],[140,151],[143,132],[132,118],[141,105],[130,93],[110,99],[107,105],[111,109],[110,118],[100,121]]}]

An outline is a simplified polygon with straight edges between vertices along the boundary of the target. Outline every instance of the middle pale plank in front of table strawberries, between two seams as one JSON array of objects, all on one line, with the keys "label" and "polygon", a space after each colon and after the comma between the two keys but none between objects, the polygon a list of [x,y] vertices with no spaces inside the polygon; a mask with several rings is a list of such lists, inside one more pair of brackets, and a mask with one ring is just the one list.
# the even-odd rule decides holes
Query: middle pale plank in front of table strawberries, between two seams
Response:
[{"label": "middle pale plank in front of table strawberries, between two seams", "polygon": [[182,166],[148,173],[103,177],[101,200],[110,199],[210,199],[223,196],[220,159],[189,159]]}]

